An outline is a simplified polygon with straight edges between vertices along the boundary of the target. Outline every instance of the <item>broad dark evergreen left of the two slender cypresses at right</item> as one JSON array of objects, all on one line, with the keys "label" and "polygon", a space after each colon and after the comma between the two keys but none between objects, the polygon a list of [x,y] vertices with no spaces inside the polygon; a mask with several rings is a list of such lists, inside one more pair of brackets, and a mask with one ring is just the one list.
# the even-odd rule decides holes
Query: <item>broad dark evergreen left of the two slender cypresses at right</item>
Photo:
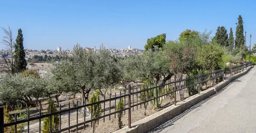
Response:
[{"label": "broad dark evergreen left of the two slender cypresses at right", "polygon": [[213,39],[215,39],[215,41],[221,46],[228,47],[226,28],[224,26],[219,26]]}]

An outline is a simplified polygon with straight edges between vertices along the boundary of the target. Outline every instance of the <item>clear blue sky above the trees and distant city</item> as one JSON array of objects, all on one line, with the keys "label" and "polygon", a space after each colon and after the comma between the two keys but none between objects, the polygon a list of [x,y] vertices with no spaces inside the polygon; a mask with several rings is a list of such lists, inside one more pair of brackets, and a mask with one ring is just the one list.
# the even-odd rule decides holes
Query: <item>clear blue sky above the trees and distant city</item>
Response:
[{"label": "clear blue sky above the trees and distant city", "polygon": [[[23,30],[24,47],[143,49],[146,40],[166,33],[175,40],[186,29],[203,32],[233,28],[241,15],[247,45],[256,43],[256,0],[1,0],[0,27],[9,25],[16,39]],[[0,39],[3,31],[0,31]],[[0,49],[3,49],[0,44]]]}]

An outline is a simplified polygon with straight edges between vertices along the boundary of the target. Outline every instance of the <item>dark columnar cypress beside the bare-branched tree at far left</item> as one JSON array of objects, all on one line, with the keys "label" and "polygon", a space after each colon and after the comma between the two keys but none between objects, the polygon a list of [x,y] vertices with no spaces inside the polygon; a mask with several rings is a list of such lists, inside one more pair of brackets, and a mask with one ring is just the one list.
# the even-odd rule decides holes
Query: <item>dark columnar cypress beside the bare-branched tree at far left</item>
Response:
[{"label": "dark columnar cypress beside the bare-branched tree at far left", "polygon": [[18,36],[16,38],[16,44],[14,45],[14,69],[15,72],[22,72],[26,69],[25,51],[23,47],[23,34],[22,30],[18,30]]}]

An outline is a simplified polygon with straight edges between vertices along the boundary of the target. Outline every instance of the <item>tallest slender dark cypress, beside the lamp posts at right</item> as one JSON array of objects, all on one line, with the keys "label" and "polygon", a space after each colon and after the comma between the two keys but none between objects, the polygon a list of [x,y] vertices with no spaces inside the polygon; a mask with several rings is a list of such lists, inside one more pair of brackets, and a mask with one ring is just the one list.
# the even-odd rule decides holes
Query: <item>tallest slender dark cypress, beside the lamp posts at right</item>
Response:
[{"label": "tallest slender dark cypress, beside the lamp posts at right", "polygon": [[236,23],[236,39],[235,39],[235,48],[244,46],[244,25],[241,15],[239,15],[238,23]]}]

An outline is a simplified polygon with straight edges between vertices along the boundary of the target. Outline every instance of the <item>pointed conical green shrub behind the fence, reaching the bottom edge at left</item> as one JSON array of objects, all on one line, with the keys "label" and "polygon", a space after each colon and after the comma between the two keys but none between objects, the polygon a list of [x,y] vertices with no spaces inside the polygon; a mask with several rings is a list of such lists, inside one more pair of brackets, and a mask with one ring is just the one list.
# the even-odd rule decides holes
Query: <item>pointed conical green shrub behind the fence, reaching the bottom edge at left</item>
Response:
[{"label": "pointed conical green shrub behind the fence, reaching the bottom edge at left", "polygon": [[[50,113],[50,108],[51,108],[51,112],[56,112],[57,108],[54,105],[54,101],[52,99],[47,99],[47,102],[48,102],[48,107],[47,107],[46,114]],[[51,121],[52,121],[52,131],[58,130],[59,114],[52,116]],[[43,120],[43,128],[42,128],[43,133],[49,133],[49,128],[50,128],[50,117],[45,117]]]}]

